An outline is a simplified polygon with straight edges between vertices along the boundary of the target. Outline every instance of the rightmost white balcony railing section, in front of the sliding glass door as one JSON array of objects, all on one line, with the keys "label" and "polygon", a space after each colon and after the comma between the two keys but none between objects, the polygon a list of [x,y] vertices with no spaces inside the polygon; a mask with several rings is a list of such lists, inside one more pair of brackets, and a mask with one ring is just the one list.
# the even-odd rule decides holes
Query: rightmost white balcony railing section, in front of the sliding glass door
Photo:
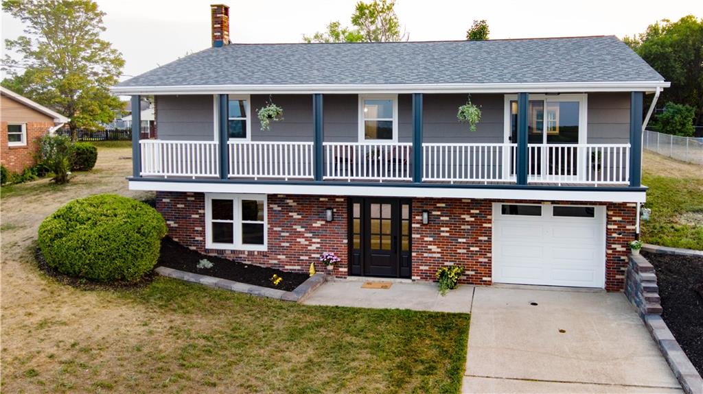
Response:
[{"label": "rightmost white balcony railing section, in front of the sliding glass door", "polygon": [[529,144],[527,150],[528,183],[630,181],[630,144]]}]

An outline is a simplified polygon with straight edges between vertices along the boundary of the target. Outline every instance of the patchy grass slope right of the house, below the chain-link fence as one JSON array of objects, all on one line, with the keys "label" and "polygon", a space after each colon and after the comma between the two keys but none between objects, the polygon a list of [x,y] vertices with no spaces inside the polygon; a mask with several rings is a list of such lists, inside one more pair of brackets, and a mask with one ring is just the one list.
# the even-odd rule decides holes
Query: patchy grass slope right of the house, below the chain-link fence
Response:
[{"label": "patchy grass slope right of the house, below the chain-link fence", "polygon": [[[703,167],[645,155],[642,183],[650,220],[641,222],[645,243],[703,250]],[[658,155],[657,155],[658,156]],[[657,163],[654,163],[657,161]]]}]

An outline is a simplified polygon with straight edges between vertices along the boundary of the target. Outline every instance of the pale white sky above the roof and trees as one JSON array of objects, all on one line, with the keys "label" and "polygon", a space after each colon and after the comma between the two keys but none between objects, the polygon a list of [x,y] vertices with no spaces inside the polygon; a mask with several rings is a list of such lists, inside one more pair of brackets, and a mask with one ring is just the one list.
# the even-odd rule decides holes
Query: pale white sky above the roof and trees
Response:
[{"label": "pale white sky above the roof and trees", "polygon": [[[339,20],[351,25],[357,0],[221,0],[230,6],[230,36],[237,43],[295,43],[303,34]],[[107,13],[103,39],[124,55],[121,80],[210,46],[210,8],[217,0],[98,0]],[[488,21],[491,39],[590,36],[620,38],[647,25],[693,14],[700,0],[396,0],[396,13],[411,41],[462,40],[472,20]],[[4,39],[22,25],[2,13]],[[4,57],[4,55],[3,55]]]}]

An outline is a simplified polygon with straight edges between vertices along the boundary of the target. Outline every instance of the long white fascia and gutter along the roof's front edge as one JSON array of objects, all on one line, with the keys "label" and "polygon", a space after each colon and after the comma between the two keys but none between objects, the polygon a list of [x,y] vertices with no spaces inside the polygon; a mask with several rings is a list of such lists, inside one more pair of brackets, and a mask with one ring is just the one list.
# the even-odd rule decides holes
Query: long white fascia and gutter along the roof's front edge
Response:
[{"label": "long white fascia and gutter along the roof's front edge", "polygon": [[665,81],[545,82],[545,83],[403,83],[389,85],[188,85],[113,86],[115,95],[212,95],[241,94],[372,94],[372,93],[583,93],[654,92],[669,88]]}]

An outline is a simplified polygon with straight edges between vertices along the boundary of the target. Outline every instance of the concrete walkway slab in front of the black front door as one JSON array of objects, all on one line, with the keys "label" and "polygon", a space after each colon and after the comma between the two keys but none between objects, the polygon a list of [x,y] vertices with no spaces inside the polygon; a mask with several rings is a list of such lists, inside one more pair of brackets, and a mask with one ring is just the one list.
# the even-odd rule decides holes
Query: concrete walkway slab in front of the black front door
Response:
[{"label": "concrete walkway slab in front of the black front door", "polygon": [[434,283],[393,283],[388,290],[363,289],[361,285],[358,280],[327,282],[303,304],[469,313],[474,292],[473,286],[459,286],[441,297]]}]

